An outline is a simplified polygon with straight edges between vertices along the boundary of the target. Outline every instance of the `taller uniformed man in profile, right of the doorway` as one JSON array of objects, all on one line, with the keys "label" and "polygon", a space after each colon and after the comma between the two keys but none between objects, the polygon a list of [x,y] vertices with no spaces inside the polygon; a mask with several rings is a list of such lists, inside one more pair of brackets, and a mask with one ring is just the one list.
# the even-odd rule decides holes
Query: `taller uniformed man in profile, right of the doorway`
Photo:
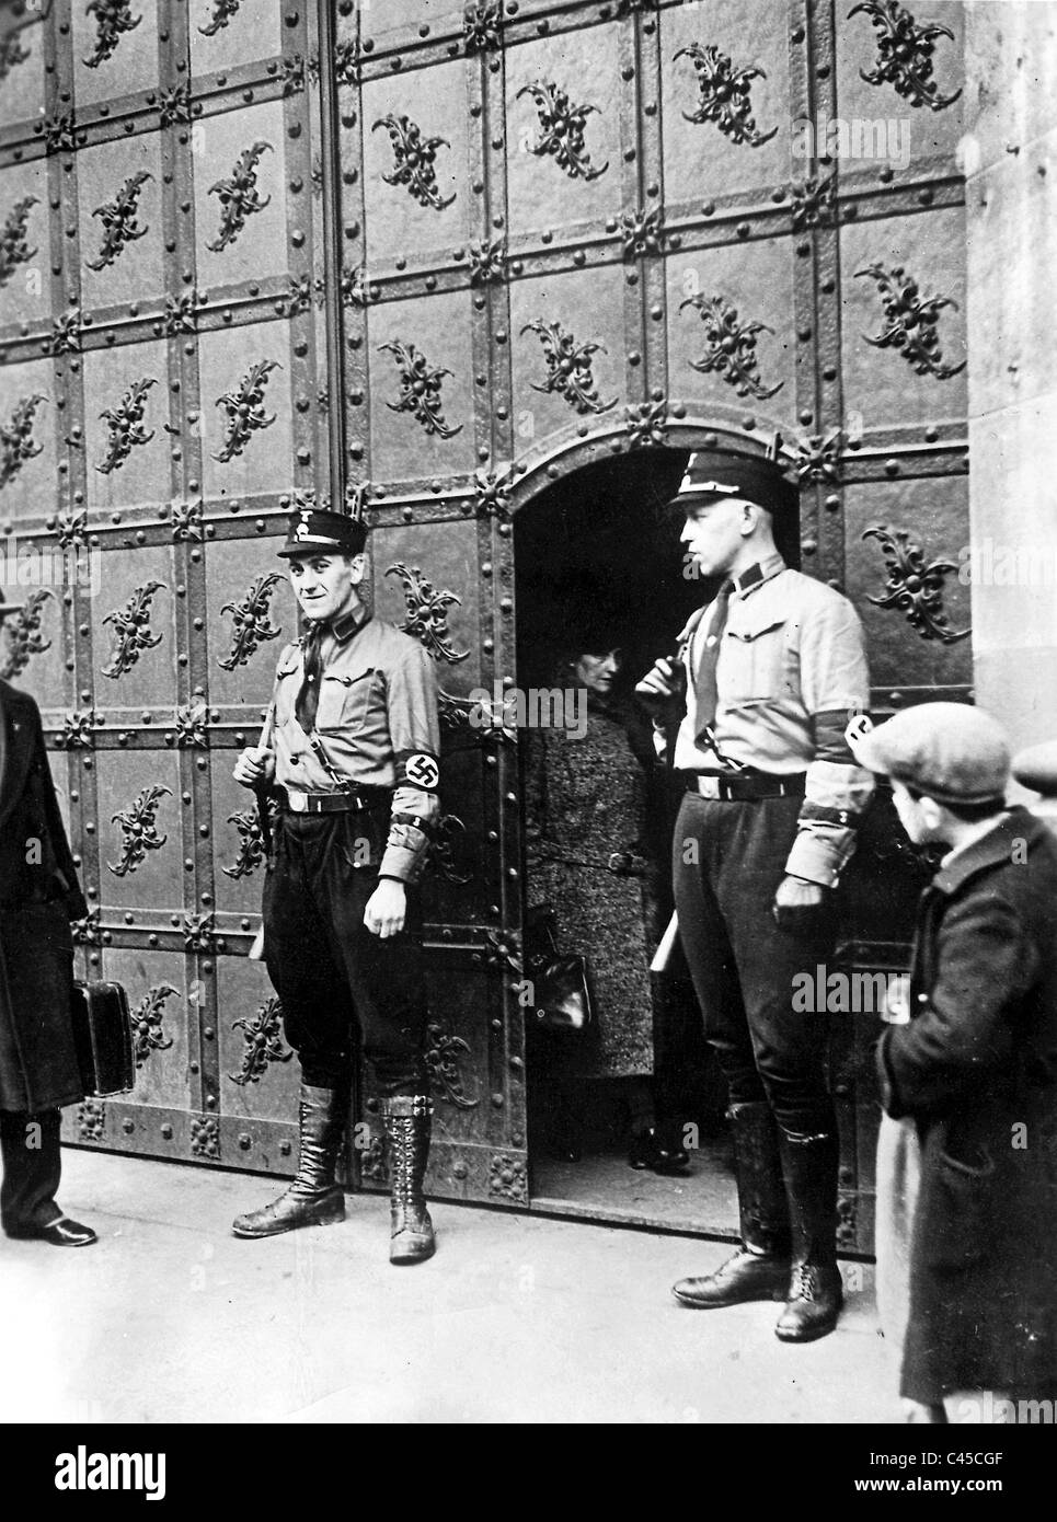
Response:
[{"label": "taller uniformed man in profile, right of the doorway", "polygon": [[842,1304],[838,1135],[827,1020],[792,994],[833,950],[833,890],[873,787],[844,738],[870,696],[862,629],[847,598],[777,552],[774,521],[795,514],[797,493],[775,464],[693,455],[678,501],[696,574],[723,581],[637,691],[687,785],[675,903],[730,1090],[743,1245],[675,1295],[786,1300],[777,1335],[806,1342]]}]

